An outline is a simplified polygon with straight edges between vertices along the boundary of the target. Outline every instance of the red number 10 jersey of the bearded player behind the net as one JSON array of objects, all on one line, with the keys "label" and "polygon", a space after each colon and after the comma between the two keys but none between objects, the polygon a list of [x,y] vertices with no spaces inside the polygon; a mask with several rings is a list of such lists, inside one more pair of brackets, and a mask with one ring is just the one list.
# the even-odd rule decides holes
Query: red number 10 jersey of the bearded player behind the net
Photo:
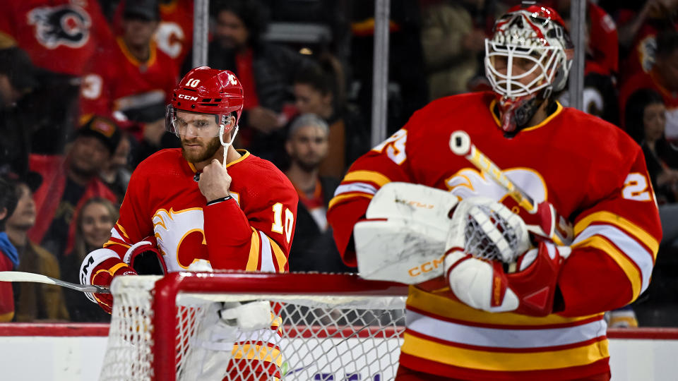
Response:
[{"label": "red number 10 jersey of the bearded player behind the net", "polygon": [[145,159],[132,174],[104,247],[124,255],[133,243],[155,235],[168,272],[186,270],[198,259],[213,269],[286,271],[297,193],[273,164],[242,154],[227,164],[235,200],[209,206],[180,148]]}]

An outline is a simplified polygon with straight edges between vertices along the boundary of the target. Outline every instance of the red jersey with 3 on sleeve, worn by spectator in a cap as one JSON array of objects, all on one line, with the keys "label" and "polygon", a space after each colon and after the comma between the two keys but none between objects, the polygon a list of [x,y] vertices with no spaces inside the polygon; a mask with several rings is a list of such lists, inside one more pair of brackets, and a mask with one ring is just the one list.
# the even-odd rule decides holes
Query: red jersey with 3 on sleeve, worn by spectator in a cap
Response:
[{"label": "red jersey with 3 on sleeve, worn by spectator in a cap", "polygon": [[[81,115],[121,111],[144,123],[165,117],[165,104],[177,85],[179,69],[167,54],[150,43],[150,58],[140,62],[121,37],[94,59],[83,76]],[[139,138],[139,136],[137,136]]]}]

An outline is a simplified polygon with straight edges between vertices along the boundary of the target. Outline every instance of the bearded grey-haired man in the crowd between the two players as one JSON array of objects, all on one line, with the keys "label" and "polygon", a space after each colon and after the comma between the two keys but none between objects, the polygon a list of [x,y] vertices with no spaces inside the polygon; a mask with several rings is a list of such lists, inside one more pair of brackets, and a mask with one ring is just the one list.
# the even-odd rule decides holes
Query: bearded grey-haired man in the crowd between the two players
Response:
[{"label": "bearded grey-haired man in the crowd between the two players", "polygon": [[328,154],[327,123],[315,114],[302,114],[290,126],[285,150],[290,155],[287,178],[299,194],[297,229],[290,251],[290,271],[346,272],[325,214],[339,185],[333,177],[319,175]]}]

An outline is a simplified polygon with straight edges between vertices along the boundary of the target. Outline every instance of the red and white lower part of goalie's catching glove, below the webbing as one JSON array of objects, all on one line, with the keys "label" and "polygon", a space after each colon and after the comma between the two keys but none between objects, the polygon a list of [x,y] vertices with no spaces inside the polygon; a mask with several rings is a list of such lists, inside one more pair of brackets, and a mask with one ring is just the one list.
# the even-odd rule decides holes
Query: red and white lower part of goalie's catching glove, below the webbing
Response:
[{"label": "red and white lower part of goalie's catching glove, below the webbing", "polygon": [[500,261],[480,260],[451,248],[444,268],[451,291],[472,308],[546,316],[553,311],[558,274],[569,251],[542,241],[518,258],[517,271],[511,273]]}]

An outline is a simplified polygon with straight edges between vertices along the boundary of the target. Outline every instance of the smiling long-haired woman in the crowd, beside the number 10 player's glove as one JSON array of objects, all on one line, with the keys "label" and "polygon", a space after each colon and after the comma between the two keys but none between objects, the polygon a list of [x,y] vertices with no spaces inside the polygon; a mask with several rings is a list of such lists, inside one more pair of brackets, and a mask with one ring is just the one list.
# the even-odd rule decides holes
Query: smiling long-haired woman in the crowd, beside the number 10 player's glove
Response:
[{"label": "smiling long-haired woman in the crowd, beside the number 10 player's glove", "polygon": [[[101,248],[111,236],[111,229],[118,219],[118,208],[110,200],[95,197],[87,200],[76,221],[76,238],[73,251],[61,262],[64,280],[78,283],[78,273],[83,259],[90,251]],[[83,293],[66,290],[66,306],[74,322],[109,321],[111,316],[99,306],[88,301]]]}]

